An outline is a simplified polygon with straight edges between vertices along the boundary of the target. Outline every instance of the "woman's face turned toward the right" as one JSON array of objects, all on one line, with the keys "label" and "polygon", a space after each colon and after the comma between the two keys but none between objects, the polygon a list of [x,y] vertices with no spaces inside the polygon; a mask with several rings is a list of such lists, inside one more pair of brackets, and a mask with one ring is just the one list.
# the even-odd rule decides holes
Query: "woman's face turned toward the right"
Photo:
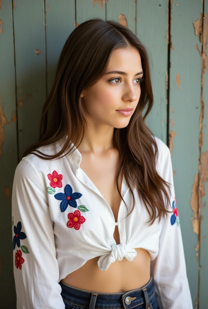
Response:
[{"label": "woman's face turned toward the right", "polygon": [[[87,120],[96,126],[126,127],[140,98],[142,76],[141,57],[137,49],[114,50],[104,76],[83,92]],[[132,113],[124,116],[117,112],[123,108],[133,108]]]}]

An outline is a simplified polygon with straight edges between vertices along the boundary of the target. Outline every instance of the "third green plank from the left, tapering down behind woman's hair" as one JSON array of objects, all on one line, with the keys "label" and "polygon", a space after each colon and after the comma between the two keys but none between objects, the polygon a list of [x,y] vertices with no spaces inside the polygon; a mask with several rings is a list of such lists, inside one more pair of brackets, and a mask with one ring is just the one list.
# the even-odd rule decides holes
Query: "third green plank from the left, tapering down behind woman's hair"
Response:
[{"label": "third green plank from the left, tapering down behind woman's hair", "polygon": [[54,82],[55,70],[65,41],[75,28],[75,2],[46,0],[47,94]]}]

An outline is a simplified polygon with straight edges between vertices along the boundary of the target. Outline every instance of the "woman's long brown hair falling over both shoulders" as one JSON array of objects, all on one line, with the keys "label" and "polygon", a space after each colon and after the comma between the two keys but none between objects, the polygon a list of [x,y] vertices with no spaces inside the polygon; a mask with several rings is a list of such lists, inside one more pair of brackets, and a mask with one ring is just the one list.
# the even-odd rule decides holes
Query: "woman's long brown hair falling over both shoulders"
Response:
[{"label": "woman's long brown hair falling over both shoulders", "polygon": [[[115,49],[129,47],[136,48],[140,53],[144,82],[129,124],[122,129],[114,128],[113,145],[118,149],[120,157],[116,183],[121,196],[118,179],[123,171],[133,196],[132,210],[135,207],[132,186],[135,186],[150,215],[148,223],[152,225],[156,218],[160,221],[169,212],[163,193],[165,200],[169,201],[165,186],[170,188],[156,171],[158,148],[152,131],[145,124],[145,118],[153,106],[148,53],[137,36],[122,24],[95,18],[81,23],[72,31],[63,46],[54,84],[43,106],[39,140],[28,147],[23,157],[33,153],[51,160],[67,155],[72,150],[71,142],[79,147],[88,128],[81,92],[102,78]],[[46,155],[37,150],[63,137],[67,137],[66,142],[57,154]]]}]

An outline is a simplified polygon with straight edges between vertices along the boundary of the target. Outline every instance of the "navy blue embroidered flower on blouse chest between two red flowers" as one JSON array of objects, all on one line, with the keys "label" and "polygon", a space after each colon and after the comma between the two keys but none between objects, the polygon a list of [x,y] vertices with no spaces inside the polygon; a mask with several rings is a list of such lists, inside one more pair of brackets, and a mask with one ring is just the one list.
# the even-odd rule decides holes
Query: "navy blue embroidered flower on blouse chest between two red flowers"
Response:
[{"label": "navy blue embroidered flower on blouse chest between two red flowers", "polygon": [[65,186],[64,193],[57,193],[54,195],[57,200],[62,201],[60,204],[61,212],[64,212],[68,205],[76,208],[76,200],[81,196],[82,194],[79,192],[72,193],[72,187],[69,184]]}]

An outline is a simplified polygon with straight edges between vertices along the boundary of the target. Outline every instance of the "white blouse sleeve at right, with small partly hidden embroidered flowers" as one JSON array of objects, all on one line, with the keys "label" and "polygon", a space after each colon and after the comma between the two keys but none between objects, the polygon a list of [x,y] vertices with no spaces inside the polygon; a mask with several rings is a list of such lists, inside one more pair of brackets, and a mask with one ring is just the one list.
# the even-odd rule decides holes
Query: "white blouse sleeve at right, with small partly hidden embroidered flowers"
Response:
[{"label": "white blouse sleeve at right, with small partly hidden embroidered flowers", "polygon": [[192,309],[179,215],[176,207],[171,153],[165,143],[163,146],[160,162],[162,175],[160,176],[171,184],[171,205],[169,204],[168,210],[171,210],[172,213],[167,214],[166,219],[162,221],[158,256],[151,261],[151,272],[160,309]]}]

